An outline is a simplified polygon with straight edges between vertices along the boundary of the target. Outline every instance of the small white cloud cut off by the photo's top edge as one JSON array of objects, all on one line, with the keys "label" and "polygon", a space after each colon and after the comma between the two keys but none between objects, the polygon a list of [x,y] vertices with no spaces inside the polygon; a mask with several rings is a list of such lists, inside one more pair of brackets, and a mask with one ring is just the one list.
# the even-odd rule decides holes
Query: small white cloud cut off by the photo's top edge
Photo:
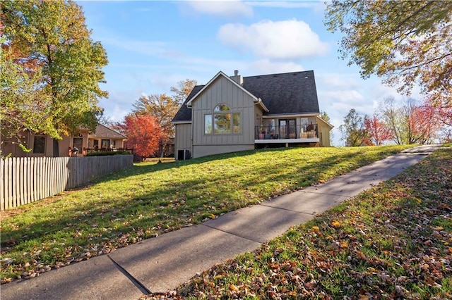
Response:
[{"label": "small white cloud cut off by the photo's top edge", "polygon": [[239,0],[229,1],[186,1],[191,9],[208,15],[224,17],[251,16],[253,8]]}]

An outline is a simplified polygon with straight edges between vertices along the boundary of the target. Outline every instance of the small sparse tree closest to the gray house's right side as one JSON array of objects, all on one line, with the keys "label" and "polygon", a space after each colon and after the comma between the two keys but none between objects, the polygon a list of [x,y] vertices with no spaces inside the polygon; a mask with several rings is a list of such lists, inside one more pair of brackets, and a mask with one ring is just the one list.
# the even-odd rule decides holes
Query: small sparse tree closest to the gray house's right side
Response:
[{"label": "small sparse tree closest to the gray house's right side", "polygon": [[363,118],[355,111],[355,108],[350,109],[345,115],[344,122],[339,126],[339,130],[342,133],[345,146],[354,147],[369,144]]}]

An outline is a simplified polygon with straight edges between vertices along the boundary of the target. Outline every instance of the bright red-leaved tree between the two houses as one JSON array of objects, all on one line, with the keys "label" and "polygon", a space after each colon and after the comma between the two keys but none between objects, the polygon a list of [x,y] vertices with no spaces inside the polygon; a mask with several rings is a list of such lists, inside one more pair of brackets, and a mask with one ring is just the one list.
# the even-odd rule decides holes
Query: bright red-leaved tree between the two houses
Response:
[{"label": "bright red-leaved tree between the two houses", "polygon": [[155,117],[131,113],[115,127],[126,135],[127,146],[139,156],[150,157],[157,151],[162,131]]}]

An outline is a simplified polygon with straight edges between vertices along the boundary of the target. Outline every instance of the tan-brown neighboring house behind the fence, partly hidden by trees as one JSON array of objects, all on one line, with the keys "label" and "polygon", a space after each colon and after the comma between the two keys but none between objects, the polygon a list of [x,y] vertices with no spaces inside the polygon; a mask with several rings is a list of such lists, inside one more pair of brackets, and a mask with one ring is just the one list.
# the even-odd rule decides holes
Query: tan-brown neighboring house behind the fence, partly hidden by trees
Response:
[{"label": "tan-brown neighboring house behind the fence, partly hidden by trees", "polygon": [[75,154],[71,150],[76,147],[79,150],[78,156],[84,156],[87,149],[121,149],[124,147],[124,141],[127,137],[99,124],[94,133],[81,129],[77,136],[53,139],[49,135],[23,132],[23,139],[25,146],[31,149],[30,152],[24,152],[13,141],[2,139],[2,155],[8,156],[8,154],[11,154],[13,157],[73,156]]}]

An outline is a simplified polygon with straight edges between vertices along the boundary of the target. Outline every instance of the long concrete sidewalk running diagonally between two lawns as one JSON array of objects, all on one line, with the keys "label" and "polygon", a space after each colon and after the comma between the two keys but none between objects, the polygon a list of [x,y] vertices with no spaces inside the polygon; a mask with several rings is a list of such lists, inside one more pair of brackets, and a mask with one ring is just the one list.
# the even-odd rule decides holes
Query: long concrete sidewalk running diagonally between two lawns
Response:
[{"label": "long concrete sidewalk running diagonally between two lawns", "polygon": [[47,273],[1,285],[8,299],[138,299],[176,289],[198,272],[257,249],[289,227],[401,173],[438,145],[417,146],[321,185],[232,211]]}]

